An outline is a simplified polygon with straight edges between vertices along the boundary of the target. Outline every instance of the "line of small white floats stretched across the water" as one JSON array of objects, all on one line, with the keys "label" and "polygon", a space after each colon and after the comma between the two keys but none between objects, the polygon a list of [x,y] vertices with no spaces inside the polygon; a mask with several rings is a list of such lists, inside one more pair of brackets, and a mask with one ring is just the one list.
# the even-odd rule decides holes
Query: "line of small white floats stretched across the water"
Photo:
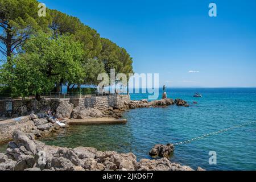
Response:
[{"label": "line of small white floats stretched across the water", "polygon": [[185,140],[184,142],[177,142],[177,143],[174,143],[174,145],[175,146],[180,146],[182,144],[188,144],[188,143],[200,140],[200,139],[204,139],[204,138],[210,137],[212,135],[217,135],[217,134],[220,134],[220,133],[224,133],[226,131],[229,131],[229,130],[232,130],[232,129],[237,129],[238,127],[243,127],[245,125],[250,125],[250,124],[253,124],[253,123],[256,123],[256,121],[247,122],[247,123],[244,123],[242,125],[237,125],[237,126],[229,127],[227,129],[224,129],[224,130],[220,130],[220,131],[216,131],[216,132],[212,132],[212,133],[209,133],[209,134],[202,135],[201,137],[195,137],[195,138],[192,138],[190,140]]}]

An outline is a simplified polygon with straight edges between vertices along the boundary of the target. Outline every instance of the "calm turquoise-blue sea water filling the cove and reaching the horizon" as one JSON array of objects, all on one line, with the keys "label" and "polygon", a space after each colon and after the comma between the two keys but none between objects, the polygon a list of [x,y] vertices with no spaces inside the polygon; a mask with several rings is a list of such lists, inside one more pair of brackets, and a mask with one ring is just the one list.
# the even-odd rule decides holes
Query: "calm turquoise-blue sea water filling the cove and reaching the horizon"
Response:
[{"label": "calm turquoise-blue sea water filling the cove and reaching the horizon", "polygon": [[[200,92],[203,98],[193,98]],[[160,93],[161,94],[161,93]],[[72,126],[44,139],[57,146],[96,147],[133,152],[148,158],[155,144],[176,143],[246,122],[256,121],[256,89],[167,89],[170,98],[182,98],[191,107],[170,106],[127,111],[126,125]],[[131,99],[147,98],[132,94]],[[198,104],[193,105],[193,101]],[[217,165],[209,165],[209,151],[217,152]],[[256,124],[176,146],[170,160],[208,170],[255,170]]]}]

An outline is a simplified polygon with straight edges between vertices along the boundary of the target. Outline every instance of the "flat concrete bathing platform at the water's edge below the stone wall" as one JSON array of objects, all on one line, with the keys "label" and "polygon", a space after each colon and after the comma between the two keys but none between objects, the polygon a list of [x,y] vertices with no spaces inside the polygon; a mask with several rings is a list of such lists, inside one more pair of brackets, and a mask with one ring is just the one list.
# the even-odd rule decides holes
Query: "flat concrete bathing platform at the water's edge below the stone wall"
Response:
[{"label": "flat concrete bathing platform at the water's edge below the stone wall", "polygon": [[68,119],[68,125],[100,125],[100,124],[125,124],[126,119],[115,118],[87,118],[87,119]]}]

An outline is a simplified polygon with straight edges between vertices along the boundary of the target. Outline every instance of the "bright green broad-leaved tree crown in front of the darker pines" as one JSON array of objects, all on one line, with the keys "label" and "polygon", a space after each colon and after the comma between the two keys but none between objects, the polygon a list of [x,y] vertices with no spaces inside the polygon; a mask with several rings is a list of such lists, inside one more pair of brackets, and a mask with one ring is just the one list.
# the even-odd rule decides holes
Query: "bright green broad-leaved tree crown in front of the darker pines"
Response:
[{"label": "bright green broad-leaved tree crown in front of the darker pines", "polygon": [[13,96],[51,92],[56,82],[82,82],[82,46],[72,36],[51,39],[47,34],[33,37],[23,46],[25,53],[3,65],[3,84]]}]

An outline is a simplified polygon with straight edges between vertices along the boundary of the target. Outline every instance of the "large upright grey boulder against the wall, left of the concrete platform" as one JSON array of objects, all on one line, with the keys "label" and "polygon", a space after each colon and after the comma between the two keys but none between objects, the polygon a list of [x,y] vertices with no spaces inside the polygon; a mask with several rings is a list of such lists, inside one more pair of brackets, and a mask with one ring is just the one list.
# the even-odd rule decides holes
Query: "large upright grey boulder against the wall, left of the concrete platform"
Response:
[{"label": "large upright grey boulder against the wall, left of the concrete platform", "polygon": [[56,109],[56,118],[70,118],[73,110],[73,104],[69,104],[68,102],[61,101],[59,106]]}]

